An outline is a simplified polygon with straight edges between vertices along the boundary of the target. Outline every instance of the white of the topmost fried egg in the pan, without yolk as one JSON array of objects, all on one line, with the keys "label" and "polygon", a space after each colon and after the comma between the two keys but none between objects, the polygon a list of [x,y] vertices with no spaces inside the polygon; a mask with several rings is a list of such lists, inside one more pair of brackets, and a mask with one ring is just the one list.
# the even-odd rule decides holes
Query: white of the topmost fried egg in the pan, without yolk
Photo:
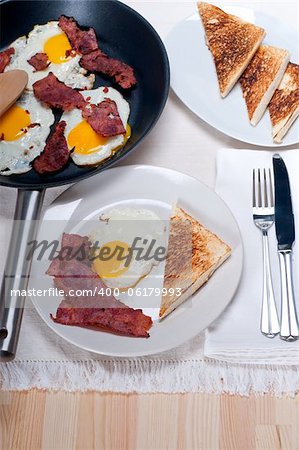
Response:
[{"label": "white of the topmost fried egg in the pan, without yolk", "polygon": [[22,36],[10,45],[10,47],[15,49],[15,54],[12,56],[10,64],[5,71],[13,69],[25,70],[29,77],[27,85],[29,90],[32,90],[33,83],[45,78],[49,72],[54,73],[67,86],[76,89],[91,89],[94,85],[95,75],[86,76],[87,70],[79,65],[80,55],[70,57],[69,60],[61,64],[51,62],[45,70],[39,71],[36,71],[28,63],[32,56],[44,51],[44,45],[49,38],[62,32],[57,21],[48,22],[45,25],[36,25],[29,33],[27,39],[26,36]]}]

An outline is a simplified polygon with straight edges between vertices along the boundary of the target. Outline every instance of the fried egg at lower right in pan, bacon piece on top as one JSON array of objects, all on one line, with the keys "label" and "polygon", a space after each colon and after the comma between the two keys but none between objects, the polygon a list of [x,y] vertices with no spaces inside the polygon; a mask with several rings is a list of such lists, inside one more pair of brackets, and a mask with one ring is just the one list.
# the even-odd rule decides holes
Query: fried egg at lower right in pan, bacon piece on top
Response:
[{"label": "fried egg at lower right in pan, bacon piece on top", "polygon": [[120,118],[126,129],[126,134],[112,137],[102,137],[82,118],[78,109],[65,112],[61,120],[67,123],[65,136],[69,150],[74,151],[71,157],[78,166],[94,166],[109,158],[117,150],[125,145],[130,138],[131,129],[128,124],[130,107],[123,96],[115,89],[109,87],[99,87],[90,91],[83,91],[82,95],[90,103],[98,104],[105,98],[114,100]]}]

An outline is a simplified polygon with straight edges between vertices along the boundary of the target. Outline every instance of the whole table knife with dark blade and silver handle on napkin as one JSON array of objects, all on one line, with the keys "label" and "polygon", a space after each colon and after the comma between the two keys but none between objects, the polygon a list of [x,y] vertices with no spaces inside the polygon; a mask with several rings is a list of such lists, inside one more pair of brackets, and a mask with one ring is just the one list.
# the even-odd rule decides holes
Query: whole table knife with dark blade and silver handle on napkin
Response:
[{"label": "whole table knife with dark blade and silver handle on napkin", "polygon": [[293,286],[292,256],[295,223],[288,172],[280,155],[273,156],[275,185],[275,228],[281,277],[280,337],[295,341],[299,337]]}]

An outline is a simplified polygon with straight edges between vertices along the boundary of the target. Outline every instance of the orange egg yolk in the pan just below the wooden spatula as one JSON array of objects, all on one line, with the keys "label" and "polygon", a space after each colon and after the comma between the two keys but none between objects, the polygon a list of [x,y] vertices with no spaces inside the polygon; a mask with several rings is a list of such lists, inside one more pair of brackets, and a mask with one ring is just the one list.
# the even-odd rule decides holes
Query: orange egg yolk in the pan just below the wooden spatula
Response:
[{"label": "orange egg yolk in the pan just below the wooden spatula", "polygon": [[16,141],[30,125],[30,114],[17,105],[11,106],[0,117],[0,140]]}]

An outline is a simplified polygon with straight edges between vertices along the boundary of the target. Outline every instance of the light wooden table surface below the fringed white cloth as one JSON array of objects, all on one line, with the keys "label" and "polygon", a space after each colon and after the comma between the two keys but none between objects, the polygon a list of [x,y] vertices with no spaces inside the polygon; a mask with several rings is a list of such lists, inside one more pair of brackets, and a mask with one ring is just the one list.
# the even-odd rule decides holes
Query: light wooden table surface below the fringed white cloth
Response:
[{"label": "light wooden table surface below the fringed white cloth", "polygon": [[0,393],[1,450],[299,449],[299,396]]}]

